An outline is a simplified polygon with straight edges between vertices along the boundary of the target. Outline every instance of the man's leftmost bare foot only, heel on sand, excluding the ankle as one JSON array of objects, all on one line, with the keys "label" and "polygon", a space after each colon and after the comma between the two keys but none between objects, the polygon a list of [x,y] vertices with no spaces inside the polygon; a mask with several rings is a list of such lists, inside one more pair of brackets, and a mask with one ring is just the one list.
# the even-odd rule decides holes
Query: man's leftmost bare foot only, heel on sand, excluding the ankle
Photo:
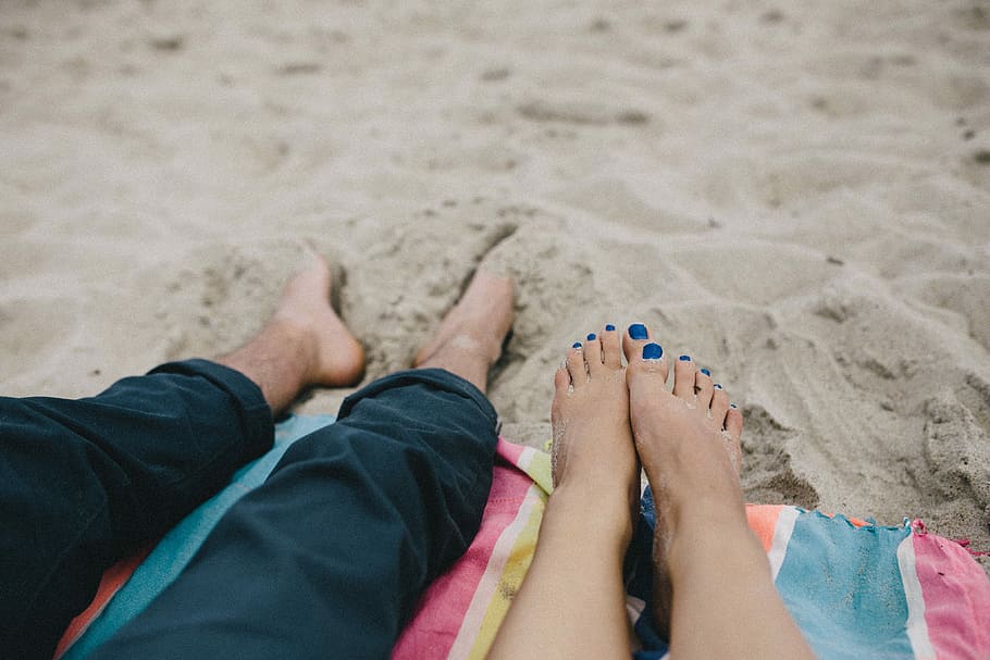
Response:
[{"label": "man's leftmost bare foot only, heel on sand, excluding the ankle", "polygon": [[364,349],[330,306],[330,267],[312,254],[282,291],[271,323],[297,328],[311,347],[307,385],[354,385],[364,372]]}]

